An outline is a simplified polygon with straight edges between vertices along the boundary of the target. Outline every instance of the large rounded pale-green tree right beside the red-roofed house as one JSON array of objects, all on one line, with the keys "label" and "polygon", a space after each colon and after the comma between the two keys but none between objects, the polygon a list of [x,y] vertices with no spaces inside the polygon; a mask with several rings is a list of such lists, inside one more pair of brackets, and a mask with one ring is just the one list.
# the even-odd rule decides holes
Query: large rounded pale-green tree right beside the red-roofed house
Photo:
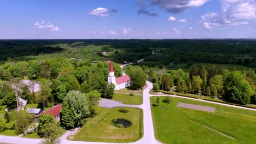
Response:
[{"label": "large rounded pale-green tree right beside the red-roofed house", "polygon": [[[70,110],[70,111],[69,111]],[[79,91],[70,91],[63,100],[61,107],[61,123],[65,128],[80,127],[90,115],[90,100]]]}]

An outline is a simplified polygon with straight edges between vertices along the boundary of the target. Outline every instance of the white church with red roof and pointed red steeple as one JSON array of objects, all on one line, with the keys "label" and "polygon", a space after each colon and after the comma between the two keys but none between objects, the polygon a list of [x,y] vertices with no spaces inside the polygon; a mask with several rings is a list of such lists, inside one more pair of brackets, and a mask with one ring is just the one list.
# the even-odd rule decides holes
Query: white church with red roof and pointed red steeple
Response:
[{"label": "white church with red roof and pointed red steeple", "polygon": [[113,83],[115,85],[115,90],[119,90],[125,87],[129,87],[130,82],[131,82],[131,79],[129,75],[124,75],[124,76],[115,78],[114,67],[112,62],[110,62],[108,83]]}]

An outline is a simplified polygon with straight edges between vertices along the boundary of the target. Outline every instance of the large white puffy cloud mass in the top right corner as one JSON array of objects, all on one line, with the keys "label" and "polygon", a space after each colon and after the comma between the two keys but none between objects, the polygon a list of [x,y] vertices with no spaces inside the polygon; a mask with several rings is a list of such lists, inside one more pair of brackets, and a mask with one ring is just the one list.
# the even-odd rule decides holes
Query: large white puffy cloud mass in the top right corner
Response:
[{"label": "large white puffy cloud mass in the top right corner", "polygon": [[206,29],[248,25],[248,21],[256,20],[256,2],[253,0],[222,0],[220,3],[222,9],[219,14],[201,16],[200,23]]}]

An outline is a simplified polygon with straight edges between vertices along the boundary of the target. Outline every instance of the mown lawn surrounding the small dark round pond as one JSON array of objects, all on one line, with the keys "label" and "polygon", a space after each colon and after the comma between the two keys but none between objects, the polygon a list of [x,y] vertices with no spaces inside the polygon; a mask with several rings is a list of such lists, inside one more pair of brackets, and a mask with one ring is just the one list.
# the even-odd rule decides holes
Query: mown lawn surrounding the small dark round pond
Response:
[{"label": "mown lawn surrounding the small dark round pond", "polygon": [[[89,118],[84,127],[77,134],[68,137],[75,141],[101,142],[133,142],[141,139],[143,129],[143,112],[137,108],[125,108],[127,113],[118,110],[121,107],[107,109],[97,107],[97,115]],[[132,122],[129,128],[117,128],[111,124],[113,118],[126,118]]]}]

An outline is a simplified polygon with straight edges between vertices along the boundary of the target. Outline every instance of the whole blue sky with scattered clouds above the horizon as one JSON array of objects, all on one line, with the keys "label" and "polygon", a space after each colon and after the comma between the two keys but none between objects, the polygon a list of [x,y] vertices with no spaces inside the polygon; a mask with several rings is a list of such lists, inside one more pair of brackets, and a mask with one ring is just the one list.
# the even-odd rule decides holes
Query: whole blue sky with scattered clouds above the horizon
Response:
[{"label": "whole blue sky with scattered clouds above the horizon", "polygon": [[115,38],[256,38],[256,2],[0,1],[0,39]]}]

